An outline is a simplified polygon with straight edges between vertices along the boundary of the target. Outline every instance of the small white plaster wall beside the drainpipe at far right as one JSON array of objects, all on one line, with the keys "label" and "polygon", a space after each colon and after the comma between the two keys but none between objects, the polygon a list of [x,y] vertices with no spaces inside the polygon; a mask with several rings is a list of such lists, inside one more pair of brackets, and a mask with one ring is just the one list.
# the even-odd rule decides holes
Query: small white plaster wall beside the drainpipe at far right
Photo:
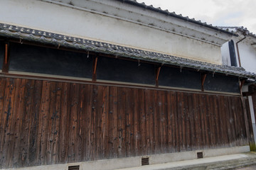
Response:
[{"label": "small white plaster wall beside the drainpipe at far right", "polygon": [[238,45],[242,67],[247,72],[256,73],[256,49],[247,41],[240,42]]}]

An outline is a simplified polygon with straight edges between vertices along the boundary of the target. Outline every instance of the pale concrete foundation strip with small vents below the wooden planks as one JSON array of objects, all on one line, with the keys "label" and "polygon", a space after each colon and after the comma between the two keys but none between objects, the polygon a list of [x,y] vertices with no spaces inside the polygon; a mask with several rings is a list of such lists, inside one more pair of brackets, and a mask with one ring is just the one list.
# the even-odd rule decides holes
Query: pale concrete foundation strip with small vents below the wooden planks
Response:
[{"label": "pale concrete foundation strip with small vents below the wooden planks", "polygon": [[[216,157],[227,154],[238,154],[243,152],[250,152],[249,146],[242,147],[228,147],[221,149],[203,149],[190,152],[178,152],[171,154],[153,154],[149,156],[149,164],[163,164],[167,162],[178,162],[183,160],[197,159],[197,153],[203,152],[203,157]],[[111,169],[124,169],[129,167],[142,166],[142,157],[129,157],[120,159],[105,159],[94,162],[78,162],[73,164],[56,164],[48,166],[33,166],[17,170],[55,170],[62,169],[68,170],[68,166],[79,166],[80,170],[111,170]],[[11,169],[8,169],[11,170]]]}]

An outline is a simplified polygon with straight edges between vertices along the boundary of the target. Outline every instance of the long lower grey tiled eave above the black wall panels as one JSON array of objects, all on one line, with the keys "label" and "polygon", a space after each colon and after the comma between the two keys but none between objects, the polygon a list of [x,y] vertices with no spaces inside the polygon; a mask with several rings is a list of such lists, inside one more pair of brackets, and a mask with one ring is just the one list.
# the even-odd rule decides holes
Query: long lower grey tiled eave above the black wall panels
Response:
[{"label": "long lower grey tiled eave above the black wall panels", "polygon": [[107,42],[85,40],[82,38],[75,38],[67,35],[49,33],[42,30],[11,26],[4,23],[0,23],[0,36],[8,38],[18,38],[20,40],[28,40],[33,42],[41,42],[61,47],[75,48],[78,50],[100,52],[119,57],[129,57],[136,60],[144,60],[160,64],[170,64],[178,67],[188,67],[197,69],[198,71],[203,70],[208,72],[256,79],[256,74],[246,72],[245,69],[243,69],[242,67],[230,67],[218,64],[210,64],[207,62],[199,62],[196,60],[175,57],[173,55],[166,55],[159,52],[139,50],[132,47],[113,45]]}]

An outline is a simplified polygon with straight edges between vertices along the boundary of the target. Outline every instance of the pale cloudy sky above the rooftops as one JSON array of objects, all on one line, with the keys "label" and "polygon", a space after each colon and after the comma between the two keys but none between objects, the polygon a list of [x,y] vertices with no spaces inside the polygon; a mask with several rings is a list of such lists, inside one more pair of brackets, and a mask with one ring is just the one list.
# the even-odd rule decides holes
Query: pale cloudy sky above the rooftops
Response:
[{"label": "pale cloudy sky above the rooftops", "polygon": [[213,24],[213,26],[243,26],[256,34],[255,0],[137,0]]}]

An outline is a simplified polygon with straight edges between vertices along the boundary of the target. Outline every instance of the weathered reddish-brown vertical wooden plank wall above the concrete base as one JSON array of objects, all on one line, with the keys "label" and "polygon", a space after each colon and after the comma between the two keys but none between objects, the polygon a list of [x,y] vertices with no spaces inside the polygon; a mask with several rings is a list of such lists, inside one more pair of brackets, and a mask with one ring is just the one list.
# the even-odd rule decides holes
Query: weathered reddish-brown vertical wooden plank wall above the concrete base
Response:
[{"label": "weathered reddish-brown vertical wooden plank wall above the concrete base", "polygon": [[237,96],[0,78],[0,168],[240,145]]}]

